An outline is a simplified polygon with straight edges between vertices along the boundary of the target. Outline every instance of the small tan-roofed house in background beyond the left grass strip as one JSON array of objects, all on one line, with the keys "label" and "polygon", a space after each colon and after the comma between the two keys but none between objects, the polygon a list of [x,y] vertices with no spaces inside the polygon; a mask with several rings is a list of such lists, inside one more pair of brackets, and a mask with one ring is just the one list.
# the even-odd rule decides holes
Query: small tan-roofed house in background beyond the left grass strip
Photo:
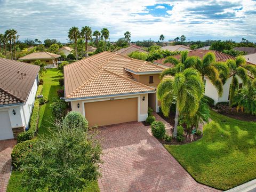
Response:
[{"label": "small tan-roofed house in background beyond the left grass strip", "polygon": [[20,61],[26,62],[26,63],[32,63],[36,60],[41,60],[46,63],[47,67],[49,66],[55,66],[57,65],[58,58],[60,55],[49,53],[49,52],[34,52],[30,53],[28,55],[25,55],[24,57],[19,58]]}]

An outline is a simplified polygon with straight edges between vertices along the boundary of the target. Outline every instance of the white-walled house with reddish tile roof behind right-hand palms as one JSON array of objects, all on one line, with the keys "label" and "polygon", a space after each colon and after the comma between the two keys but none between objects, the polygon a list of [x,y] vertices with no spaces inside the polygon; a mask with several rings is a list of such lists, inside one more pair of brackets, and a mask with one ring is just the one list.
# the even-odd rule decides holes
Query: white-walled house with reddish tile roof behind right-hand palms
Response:
[{"label": "white-walled house with reddish tile roof behind right-hand palms", "polygon": [[[204,55],[206,53],[212,52],[214,53],[215,57],[216,57],[216,61],[220,61],[220,62],[225,62],[228,59],[236,59],[235,57],[219,52],[219,51],[211,51],[211,50],[193,50],[190,51],[188,53],[188,57],[192,57],[192,56],[196,56],[199,58],[203,58]],[[179,55],[174,55],[173,56],[176,59],[180,59],[180,54]],[[173,65],[171,63],[164,63],[165,58],[163,59],[159,59],[159,60],[155,60],[154,63],[156,65],[165,67],[165,68],[171,68],[173,67]],[[251,64],[251,63],[250,63]],[[213,86],[213,84],[209,81],[209,79],[205,78],[205,95],[214,99],[214,102],[226,102],[229,101],[229,86],[231,84],[231,80],[232,77],[229,77],[227,79],[227,82],[223,85],[223,93],[222,93],[222,97],[219,97],[217,89]],[[239,87],[242,87],[242,79],[240,79],[238,77],[238,83],[239,83]]]}]

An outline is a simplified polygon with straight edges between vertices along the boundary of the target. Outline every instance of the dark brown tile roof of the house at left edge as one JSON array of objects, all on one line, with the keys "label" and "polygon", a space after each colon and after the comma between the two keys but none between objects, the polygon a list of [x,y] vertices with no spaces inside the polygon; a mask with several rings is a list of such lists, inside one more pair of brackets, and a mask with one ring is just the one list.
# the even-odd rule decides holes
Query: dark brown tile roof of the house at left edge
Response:
[{"label": "dark brown tile roof of the house at left edge", "polygon": [[39,69],[36,65],[0,58],[0,106],[26,102]]}]

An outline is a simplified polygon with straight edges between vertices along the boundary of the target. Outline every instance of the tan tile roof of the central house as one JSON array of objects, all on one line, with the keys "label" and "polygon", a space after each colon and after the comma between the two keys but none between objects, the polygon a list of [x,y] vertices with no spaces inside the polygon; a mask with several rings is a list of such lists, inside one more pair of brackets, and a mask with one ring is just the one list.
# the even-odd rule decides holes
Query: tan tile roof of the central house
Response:
[{"label": "tan tile roof of the central house", "polygon": [[135,71],[157,70],[161,73],[164,70],[150,62],[118,53],[101,52],[64,67],[66,98],[154,91],[133,80],[133,76],[125,70],[131,66]]}]

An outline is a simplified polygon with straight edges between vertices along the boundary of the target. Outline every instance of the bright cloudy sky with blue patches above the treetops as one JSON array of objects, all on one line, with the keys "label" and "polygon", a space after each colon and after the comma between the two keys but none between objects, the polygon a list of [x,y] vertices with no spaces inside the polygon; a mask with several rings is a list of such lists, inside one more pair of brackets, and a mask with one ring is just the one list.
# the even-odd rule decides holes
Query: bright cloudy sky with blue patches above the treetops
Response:
[{"label": "bright cloudy sky with blue patches above the treetops", "polygon": [[130,31],[132,41],[165,41],[185,35],[190,41],[221,39],[256,42],[256,0],[0,0],[0,33],[15,29],[23,39],[55,38],[68,30],[106,27],[110,41]]}]

